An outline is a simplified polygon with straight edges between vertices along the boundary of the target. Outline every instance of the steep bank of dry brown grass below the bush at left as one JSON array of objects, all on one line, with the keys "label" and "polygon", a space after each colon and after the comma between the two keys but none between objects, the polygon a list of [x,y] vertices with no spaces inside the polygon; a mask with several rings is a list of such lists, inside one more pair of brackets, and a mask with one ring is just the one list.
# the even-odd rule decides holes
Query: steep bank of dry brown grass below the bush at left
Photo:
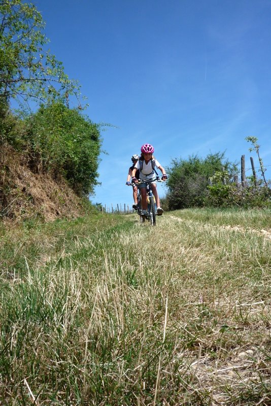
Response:
[{"label": "steep bank of dry brown grass below the bush at left", "polygon": [[76,218],[86,205],[63,179],[33,173],[23,155],[12,147],[0,150],[0,219]]}]

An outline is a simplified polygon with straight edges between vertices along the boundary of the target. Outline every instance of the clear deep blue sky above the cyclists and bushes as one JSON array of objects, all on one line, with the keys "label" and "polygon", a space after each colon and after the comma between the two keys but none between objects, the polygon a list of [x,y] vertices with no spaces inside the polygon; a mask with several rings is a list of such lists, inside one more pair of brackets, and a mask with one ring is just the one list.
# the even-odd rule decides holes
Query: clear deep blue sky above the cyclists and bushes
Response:
[{"label": "clear deep blue sky above the cyclists and bushes", "polygon": [[144,143],[165,167],[225,151],[236,162],[245,154],[249,168],[252,135],[271,178],[270,0],[33,3],[51,52],[82,85],[86,114],[112,125],[102,132],[108,155],[93,202],[132,204],[125,181]]}]

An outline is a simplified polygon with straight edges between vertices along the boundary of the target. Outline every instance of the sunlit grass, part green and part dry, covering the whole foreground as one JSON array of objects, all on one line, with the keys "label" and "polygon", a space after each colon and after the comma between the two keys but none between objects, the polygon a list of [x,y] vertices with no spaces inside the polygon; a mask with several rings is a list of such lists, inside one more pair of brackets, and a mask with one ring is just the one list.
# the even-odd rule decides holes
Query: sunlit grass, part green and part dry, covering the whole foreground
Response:
[{"label": "sunlit grass, part green and part dry, covering the whole foreground", "polygon": [[270,405],[270,230],[267,210],[2,225],[0,404]]}]

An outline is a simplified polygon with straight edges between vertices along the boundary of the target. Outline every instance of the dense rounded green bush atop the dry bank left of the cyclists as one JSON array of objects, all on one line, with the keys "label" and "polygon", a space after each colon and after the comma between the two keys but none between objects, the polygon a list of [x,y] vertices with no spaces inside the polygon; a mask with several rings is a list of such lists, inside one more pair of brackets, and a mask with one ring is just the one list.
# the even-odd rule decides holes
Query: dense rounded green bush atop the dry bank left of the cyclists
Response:
[{"label": "dense rounded green bush atop the dry bank left of the cyclists", "polygon": [[101,145],[99,125],[59,102],[42,106],[25,124],[31,169],[64,176],[78,194],[93,192]]}]

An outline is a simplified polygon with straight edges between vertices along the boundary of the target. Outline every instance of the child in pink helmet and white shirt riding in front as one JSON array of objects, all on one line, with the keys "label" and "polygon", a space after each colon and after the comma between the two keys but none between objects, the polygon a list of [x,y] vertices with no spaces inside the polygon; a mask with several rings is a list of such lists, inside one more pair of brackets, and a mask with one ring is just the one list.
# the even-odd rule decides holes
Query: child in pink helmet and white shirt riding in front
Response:
[{"label": "child in pink helmet and white shirt riding in front", "polygon": [[157,206],[157,215],[161,216],[163,214],[163,209],[160,207],[160,199],[156,189],[156,176],[155,176],[155,166],[162,172],[162,180],[165,181],[167,179],[167,175],[165,174],[164,168],[160,165],[160,163],[155,159],[152,155],[154,152],[154,148],[150,144],[144,144],[141,147],[141,157],[134,165],[132,170],[132,181],[134,183],[138,183],[138,179],[136,177],[136,173],[140,170],[139,178],[143,181],[138,184],[138,187],[141,189],[142,195],[142,216],[146,217],[147,214],[147,184],[144,181],[151,181],[151,188],[152,192],[155,197],[156,206]]}]

